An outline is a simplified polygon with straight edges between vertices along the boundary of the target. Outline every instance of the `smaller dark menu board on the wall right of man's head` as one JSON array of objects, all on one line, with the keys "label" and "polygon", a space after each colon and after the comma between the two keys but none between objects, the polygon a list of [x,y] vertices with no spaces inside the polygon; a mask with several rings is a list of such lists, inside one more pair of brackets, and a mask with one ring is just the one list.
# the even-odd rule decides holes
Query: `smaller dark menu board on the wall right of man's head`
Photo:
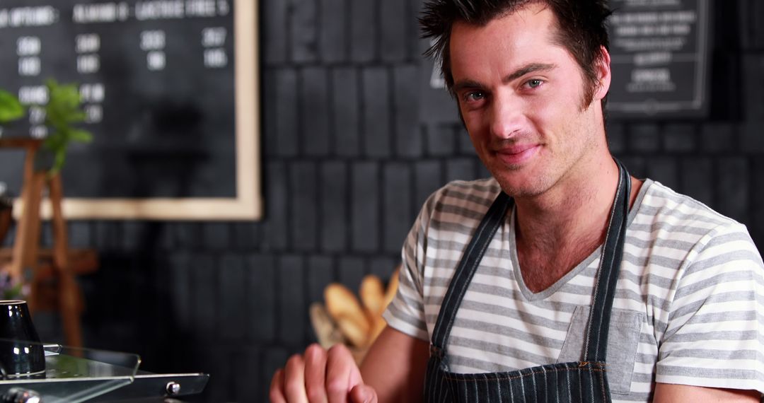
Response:
[{"label": "smaller dark menu board on the wall right of man's head", "polygon": [[707,113],[709,0],[610,0],[614,118]]}]

